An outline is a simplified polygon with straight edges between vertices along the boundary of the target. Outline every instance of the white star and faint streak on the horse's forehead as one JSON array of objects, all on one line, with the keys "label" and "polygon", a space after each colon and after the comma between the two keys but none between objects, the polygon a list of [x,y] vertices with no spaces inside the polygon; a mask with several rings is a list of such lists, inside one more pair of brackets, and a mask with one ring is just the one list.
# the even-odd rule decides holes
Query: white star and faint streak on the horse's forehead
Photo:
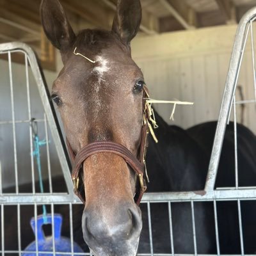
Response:
[{"label": "white star and faint streak on the horse's forehead", "polygon": [[109,71],[108,60],[103,58],[102,56],[96,56],[96,66],[93,68],[93,73],[95,73],[98,77],[98,81],[94,84],[94,101],[95,101],[95,111],[99,112],[101,107],[101,100],[99,96],[99,90],[101,86],[101,82],[104,81],[104,74]]}]

